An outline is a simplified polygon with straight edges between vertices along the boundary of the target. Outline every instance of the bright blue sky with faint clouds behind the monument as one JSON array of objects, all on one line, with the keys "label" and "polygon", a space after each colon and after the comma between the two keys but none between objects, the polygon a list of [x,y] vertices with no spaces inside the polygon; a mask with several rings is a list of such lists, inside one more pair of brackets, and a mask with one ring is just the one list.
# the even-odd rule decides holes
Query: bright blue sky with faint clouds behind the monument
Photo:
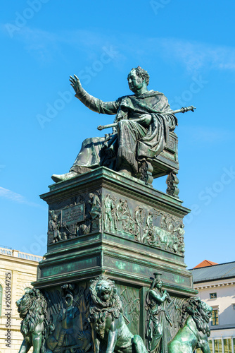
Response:
[{"label": "bright blue sky with faint clouds behind the monument", "polygon": [[[129,94],[140,65],[178,114],[185,262],[234,261],[233,1],[1,1],[0,245],[43,255],[48,210],[39,194],[68,172],[82,140],[112,116],[89,111],[74,73],[101,100]],[[165,179],[154,181],[165,191]]]}]

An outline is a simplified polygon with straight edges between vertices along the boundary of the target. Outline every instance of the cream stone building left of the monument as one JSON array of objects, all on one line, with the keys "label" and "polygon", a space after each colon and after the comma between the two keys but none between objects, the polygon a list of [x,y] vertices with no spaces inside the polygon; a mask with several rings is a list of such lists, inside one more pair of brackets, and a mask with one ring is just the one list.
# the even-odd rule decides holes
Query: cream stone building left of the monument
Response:
[{"label": "cream stone building left of the monument", "polygon": [[[23,296],[25,288],[32,288],[39,261],[42,256],[0,247],[0,353],[19,352],[23,335],[15,301]],[[7,340],[10,346],[6,346]]]}]

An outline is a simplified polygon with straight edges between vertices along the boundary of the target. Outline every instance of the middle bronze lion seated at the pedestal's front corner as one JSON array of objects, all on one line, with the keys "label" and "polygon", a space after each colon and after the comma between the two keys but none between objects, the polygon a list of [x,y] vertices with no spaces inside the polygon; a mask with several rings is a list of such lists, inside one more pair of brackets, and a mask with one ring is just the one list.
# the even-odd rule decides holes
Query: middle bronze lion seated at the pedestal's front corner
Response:
[{"label": "middle bronze lion seated at the pedestal's front corner", "polygon": [[100,275],[91,280],[91,323],[94,353],[147,353],[139,335],[132,335],[122,315],[122,301],[115,283]]}]

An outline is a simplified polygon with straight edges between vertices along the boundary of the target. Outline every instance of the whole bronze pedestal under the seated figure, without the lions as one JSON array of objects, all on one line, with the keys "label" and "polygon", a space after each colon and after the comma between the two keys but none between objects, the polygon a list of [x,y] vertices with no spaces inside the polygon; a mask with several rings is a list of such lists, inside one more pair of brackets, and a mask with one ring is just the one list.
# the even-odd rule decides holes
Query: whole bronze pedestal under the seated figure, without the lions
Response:
[{"label": "whole bronze pedestal under the seated figure, without the lions", "polygon": [[[153,273],[160,272],[172,297],[166,304],[172,318],[167,340],[174,337],[184,300],[196,294],[184,264],[183,218],[189,209],[182,201],[106,167],[53,184],[41,198],[49,205],[48,246],[33,285],[44,293],[54,324],[66,313],[65,285],[70,284],[79,323],[71,335],[89,332],[89,281],[105,274],[115,280],[129,329],[144,339],[146,292]],[[49,343],[51,352],[59,341],[80,344],[77,338],[65,344],[60,325]],[[88,352],[89,343],[80,349]]]}]

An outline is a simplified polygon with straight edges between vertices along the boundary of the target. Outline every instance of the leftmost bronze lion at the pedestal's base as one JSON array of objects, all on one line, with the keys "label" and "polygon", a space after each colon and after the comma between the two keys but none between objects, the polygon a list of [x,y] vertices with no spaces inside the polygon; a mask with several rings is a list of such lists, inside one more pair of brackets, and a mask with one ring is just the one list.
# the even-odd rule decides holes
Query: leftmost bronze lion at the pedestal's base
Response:
[{"label": "leftmost bronze lion at the pedestal's base", "polygon": [[46,300],[39,289],[27,289],[25,295],[16,301],[20,318],[20,332],[24,340],[19,353],[27,353],[33,347],[33,353],[44,353],[46,337],[53,330],[46,319]]}]

